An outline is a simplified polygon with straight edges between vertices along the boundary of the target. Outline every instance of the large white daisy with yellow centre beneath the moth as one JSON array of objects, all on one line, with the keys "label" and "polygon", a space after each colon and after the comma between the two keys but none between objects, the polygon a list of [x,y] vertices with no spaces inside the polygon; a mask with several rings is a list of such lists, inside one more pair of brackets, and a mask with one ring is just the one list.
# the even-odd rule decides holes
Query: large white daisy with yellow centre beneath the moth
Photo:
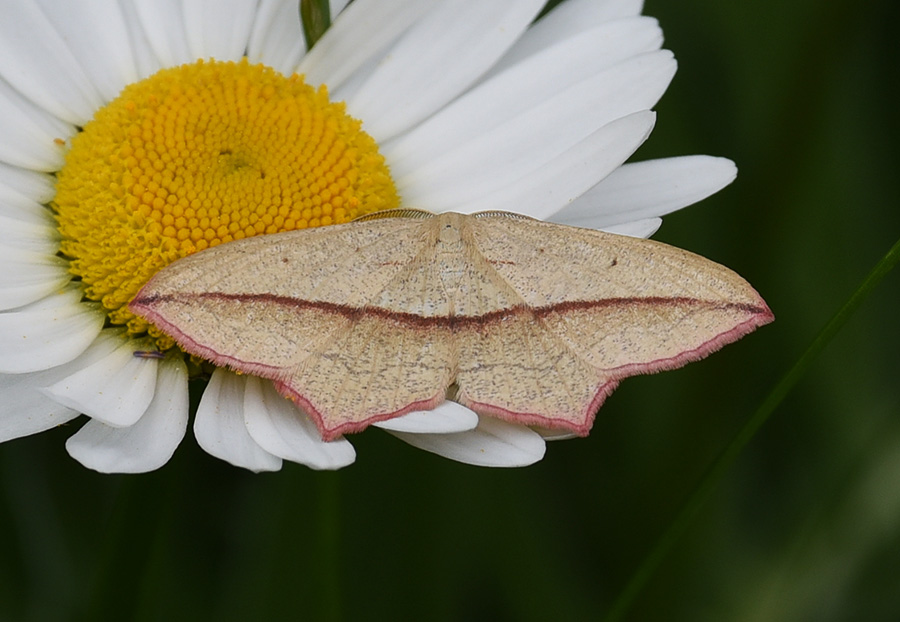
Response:
[{"label": "large white daisy with yellow centre beneath the moth", "polygon": [[[21,0],[0,8],[0,441],[88,418],[85,466],[165,464],[193,420],[254,471],[335,469],[271,383],[185,357],[127,304],[159,269],[251,235],[408,205],[502,209],[647,237],[731,182],[721,158],[625,164],[675,73],[639,0]],[[302,76],[302,77],[301,77]],[[445,402],[376,424],[472,464],[549,432]]]}]

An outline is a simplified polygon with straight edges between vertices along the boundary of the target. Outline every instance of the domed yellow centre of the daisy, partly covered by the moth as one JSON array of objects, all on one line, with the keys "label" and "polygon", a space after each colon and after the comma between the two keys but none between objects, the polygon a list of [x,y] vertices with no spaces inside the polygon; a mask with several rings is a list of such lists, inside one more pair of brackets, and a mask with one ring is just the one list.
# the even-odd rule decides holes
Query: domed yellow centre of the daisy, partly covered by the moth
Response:
[{"label": "domed yellow centre of the daisy, partly covered by the moth", "polygon": [[199,61],[126,87],[58,173],[61,252],[112,324],[172,346],[128,302],[172,261],[231,240],[396,207],[378,146],[302,77]]}]

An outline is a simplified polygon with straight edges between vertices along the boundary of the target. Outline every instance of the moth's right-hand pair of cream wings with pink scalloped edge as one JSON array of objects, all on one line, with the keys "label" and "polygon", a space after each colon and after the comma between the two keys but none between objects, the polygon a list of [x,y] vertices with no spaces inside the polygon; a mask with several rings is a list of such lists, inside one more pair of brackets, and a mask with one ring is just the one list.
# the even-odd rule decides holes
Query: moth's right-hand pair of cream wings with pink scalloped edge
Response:
[{"label": "moth's right-hand pair of cream wings with pink scalloped edge", "polygon": [[482,214],[483,270],[521,307],[461,332],[460,399],[475,410],[586,434],[617,382],[679,367],[772,320],[731,270],[653,242]]}]

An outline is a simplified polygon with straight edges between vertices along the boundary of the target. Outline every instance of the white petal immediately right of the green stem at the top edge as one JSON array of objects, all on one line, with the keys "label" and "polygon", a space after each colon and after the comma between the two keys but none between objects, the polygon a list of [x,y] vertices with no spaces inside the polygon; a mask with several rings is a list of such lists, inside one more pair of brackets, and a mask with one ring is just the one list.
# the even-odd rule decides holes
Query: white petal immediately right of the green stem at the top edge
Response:
[{"label": "white petal immediately right of the green stem at the top edge", "polygon": [[303,58],[297,73],[304,74],[309,84],[327,84],[334,93],[435,4],[434,0],[354,2]]}]

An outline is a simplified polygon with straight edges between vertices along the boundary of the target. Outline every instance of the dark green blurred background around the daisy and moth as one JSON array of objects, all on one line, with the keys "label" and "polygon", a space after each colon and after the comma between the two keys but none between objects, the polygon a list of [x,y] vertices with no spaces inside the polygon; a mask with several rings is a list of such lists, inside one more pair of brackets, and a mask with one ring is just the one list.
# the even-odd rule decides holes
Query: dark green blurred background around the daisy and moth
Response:
[{"label": "dark green blurred background around the daisy and moth", "polygon": [[[355,465],[253,475],[190,436],[104,476],[66,426],[0,445],[0,620],[596,620],[708,465],[900,232],[900,4],[647,0],[679,71],[636,159],[738,180],[657,238],[720,261],[777,321],[626,381],[527,469],[374,431]],[[900,274],[748,445],[627,620],[900,619]],[[196,389],[197,387],[195,387]]]}]

